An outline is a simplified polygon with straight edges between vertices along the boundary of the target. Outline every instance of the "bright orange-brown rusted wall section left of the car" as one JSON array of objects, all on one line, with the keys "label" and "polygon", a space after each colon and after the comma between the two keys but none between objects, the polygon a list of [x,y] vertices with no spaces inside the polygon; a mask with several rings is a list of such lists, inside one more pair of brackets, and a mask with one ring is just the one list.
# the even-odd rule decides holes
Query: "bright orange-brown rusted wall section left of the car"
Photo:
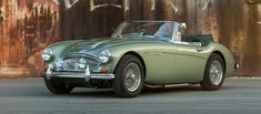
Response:
[{"label": "bright orange-brown rusted wall section left of the car", "polygon": [[40,50],[59,41],[52,0],[0,0],[0,76],[37,75]]}]

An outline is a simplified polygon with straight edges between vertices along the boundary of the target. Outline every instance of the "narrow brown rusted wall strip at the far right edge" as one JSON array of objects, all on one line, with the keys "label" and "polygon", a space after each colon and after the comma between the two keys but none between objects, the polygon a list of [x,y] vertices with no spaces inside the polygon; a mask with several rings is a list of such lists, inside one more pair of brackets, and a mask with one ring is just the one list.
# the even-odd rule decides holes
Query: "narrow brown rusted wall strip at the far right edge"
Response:
[{"label": "narrow brown rusted wall strip at the far right edge", "polygon": [[[249,0],[252,2],[252,0]],[[260,0],[253,0],[259,1]],[[243,38],[241,42],[241,63],[243,68],[240,74],[261,75],[261,2],[244,4]]]}]

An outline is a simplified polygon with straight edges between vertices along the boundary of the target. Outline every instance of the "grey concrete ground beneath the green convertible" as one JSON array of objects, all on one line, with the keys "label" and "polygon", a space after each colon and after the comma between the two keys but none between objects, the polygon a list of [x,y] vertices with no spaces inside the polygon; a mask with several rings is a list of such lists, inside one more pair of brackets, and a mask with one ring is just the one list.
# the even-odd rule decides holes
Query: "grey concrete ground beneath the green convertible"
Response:
[{"label": "grey concrete ground beneath the green convertible", "polygon": [[0,114],[261,114],[261,80],[228,79],[219,91],[198,85],[145,89],[134,99],[111,90],[54,95],[41,79],[0,80]]}]

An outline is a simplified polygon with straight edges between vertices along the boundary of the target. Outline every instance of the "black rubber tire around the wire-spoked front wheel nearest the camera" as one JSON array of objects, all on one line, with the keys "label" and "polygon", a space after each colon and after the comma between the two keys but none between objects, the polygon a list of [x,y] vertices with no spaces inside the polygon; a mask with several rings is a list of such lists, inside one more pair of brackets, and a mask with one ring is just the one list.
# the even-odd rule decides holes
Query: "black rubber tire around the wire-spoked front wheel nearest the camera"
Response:
[{"label": "black rubber tire around the wire-spoked front wheel nearest the camera", "polygon": [[[135,65],[134,65],[135,64]],[[126,76],[128,76],[127,71],[128,68],[130,69],[130,65],[133,66],[139,66],[139,71],[137,70],[138,75],[140,74],[140,76],[138,79],[140,79],[138,82],[140,82],[139,84],[135,84],[134,86],[134,91],[129,91],[130,89],[127,87],[127,85],[124,84],[127,80],[124,80]],[[133,68],[131,69],[133,70]],[[134,56],[134,55],[124,55],[118,63],[116,71],[116,79],[113,81],[113,91],[118,96],[121,97],[134,97],[137,95],[140,94],[142,87],[143,87],[143,81],[144,81],[144,69],[142,63],[140,62],[140,60]],[[135,74],[133,74],[135,75]],[[133,80],[132,80],[133,81]],[[135,80],[137,81],[137,80]]]}]

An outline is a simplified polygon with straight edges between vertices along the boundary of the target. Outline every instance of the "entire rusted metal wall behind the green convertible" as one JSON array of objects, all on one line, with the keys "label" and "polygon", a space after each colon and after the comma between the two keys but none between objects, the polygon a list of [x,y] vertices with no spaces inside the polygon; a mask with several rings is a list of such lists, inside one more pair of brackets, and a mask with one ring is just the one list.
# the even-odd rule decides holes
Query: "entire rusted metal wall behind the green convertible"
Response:
[{"label": "entire rusted metal wall behind the green convertible", "polygon": [[109,37],[123,20],[187,22],[188,33],[211,33],[233,52],[237,75],[261,76],[259,1],[0,0],[0,76],[36,75],[47,44]]}]

